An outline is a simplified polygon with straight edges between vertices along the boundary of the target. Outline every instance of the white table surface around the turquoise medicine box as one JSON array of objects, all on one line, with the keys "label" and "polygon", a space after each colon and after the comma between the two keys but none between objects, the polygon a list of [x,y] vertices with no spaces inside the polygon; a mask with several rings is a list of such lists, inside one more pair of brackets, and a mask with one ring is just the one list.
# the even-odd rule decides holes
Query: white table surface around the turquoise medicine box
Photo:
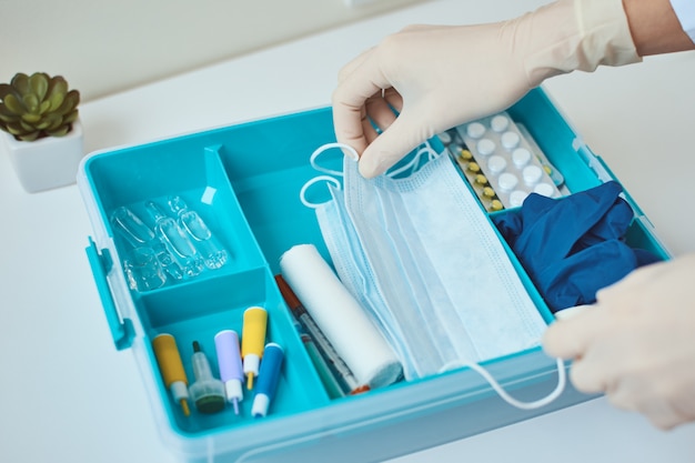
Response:
[{"label": "white table surface around the turquoise medicine box", "polygon": [[[502,19],[538,3],[429,2],[89,102],[85,149],[325,105],[338,70],[387,33]],[[678,53],[545,85],[674,254],[695,250],[694,77],[695,53]],[[0,212],[0,461],[175,461],[133,356],[113,348],[84,255],[91,225],[77,187],[24,193],[1,153]],[[598,399],[393,460],[430,461],[691,462],[695,425],[657,431]]]}]

